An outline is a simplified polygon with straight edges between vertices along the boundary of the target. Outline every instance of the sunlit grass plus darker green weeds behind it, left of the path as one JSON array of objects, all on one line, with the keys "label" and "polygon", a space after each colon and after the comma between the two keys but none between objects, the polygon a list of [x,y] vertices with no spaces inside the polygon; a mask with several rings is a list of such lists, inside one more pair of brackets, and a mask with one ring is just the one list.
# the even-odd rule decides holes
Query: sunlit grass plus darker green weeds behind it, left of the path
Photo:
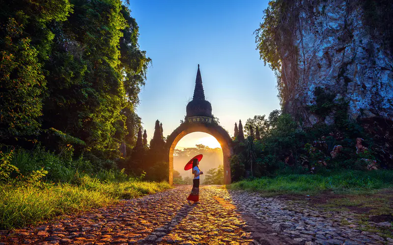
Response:
[{"label": "sunlit grass plus darker green weeds behind it, left of the path", "polygon": [[37,148],[1,151],[0,229],[35,224],[153,194],[171,186],[145,182],[123,170],[93,167],[83,158],[64,158]]}]

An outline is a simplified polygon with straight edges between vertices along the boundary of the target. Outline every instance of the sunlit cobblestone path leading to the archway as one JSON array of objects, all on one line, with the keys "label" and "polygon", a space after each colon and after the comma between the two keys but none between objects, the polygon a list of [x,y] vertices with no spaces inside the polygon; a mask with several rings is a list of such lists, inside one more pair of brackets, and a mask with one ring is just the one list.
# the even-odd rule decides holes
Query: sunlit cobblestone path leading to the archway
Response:
[{"label": "sunlit cobblestone path leading to the archway", "polygon": [[[201,205],[188,205],[190,186],[125,200],[91,213],[12,232],[2,244],[393,244],[361,231],[349,214],[326,213],[280,198],[200,188]],[[345,226],[341,225],[346,220]]]}]

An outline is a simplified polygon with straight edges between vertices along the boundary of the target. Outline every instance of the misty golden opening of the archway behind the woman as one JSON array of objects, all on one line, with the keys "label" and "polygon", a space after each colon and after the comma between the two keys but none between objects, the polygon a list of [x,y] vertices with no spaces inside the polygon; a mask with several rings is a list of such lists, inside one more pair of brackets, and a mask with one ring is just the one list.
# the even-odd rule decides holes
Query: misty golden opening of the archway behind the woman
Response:
[{"label": "misty golden opening of the archway behind the woman", "polygon": [[179,140],[173,151],[173,184],[192,184],[192,171],[184,165],[197,154],[203,154],[199,169],[200,183],[224,184],[224,155],[220,143],[210,134],[193,132]]}]

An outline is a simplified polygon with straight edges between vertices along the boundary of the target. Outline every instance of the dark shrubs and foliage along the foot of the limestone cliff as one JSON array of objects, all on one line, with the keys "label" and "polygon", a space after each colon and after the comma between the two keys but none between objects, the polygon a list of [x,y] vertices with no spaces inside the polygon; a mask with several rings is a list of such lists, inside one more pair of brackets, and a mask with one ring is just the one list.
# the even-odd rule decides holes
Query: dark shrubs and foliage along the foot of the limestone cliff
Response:
[{"label": "dark shrubs and foliage along the foot of the limestone cliff", "polygon": [[[323,102],[331,100],[328,92],[319,96],[322,100],[317,105],[324,108],[320,110],[322,114],[347,108],[339,102],[331,105]],[[393,159],[386,154],[391,151],[388,143],[391,139],[386,137],[392,128],[391,122],[377,119],[351,121],[345,110],[337,114],[333,125],[316,124],[302,128],[291,115],[281,114],[278,110],[271,112],[263,122],[264,133],[260,140],[248,136],[244,142],[233,142],[232,180],[277,173],[393,168]],[[252,119],[248,123],[254,125]]]}]

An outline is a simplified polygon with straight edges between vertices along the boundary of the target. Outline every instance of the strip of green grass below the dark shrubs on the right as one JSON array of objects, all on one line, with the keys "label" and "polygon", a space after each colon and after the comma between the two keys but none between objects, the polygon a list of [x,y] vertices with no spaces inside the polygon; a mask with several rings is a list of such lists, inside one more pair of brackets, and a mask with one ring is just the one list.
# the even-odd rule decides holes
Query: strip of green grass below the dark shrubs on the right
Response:
[{"label": "strip of green grass below the dark shrubs on the right", "polygon": [[393,188],[393,171],[341,171],[326,174],[288,174],[242,180],[228,189],[260,191],[270,194],[366,193]]}]

